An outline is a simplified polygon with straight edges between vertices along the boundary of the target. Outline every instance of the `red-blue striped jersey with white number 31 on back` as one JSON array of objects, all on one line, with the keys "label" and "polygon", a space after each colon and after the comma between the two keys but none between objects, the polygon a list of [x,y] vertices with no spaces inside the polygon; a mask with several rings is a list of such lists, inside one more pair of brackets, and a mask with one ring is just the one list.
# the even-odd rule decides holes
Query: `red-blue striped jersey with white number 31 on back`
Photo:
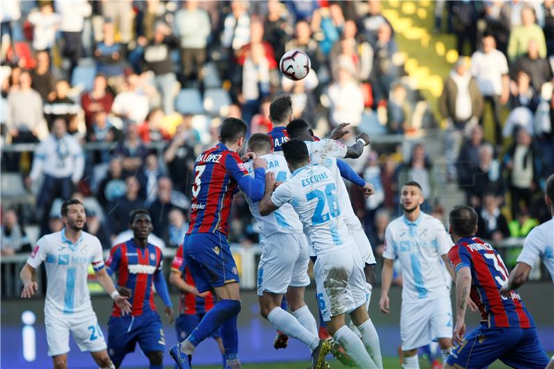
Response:
[{"label": "red-blue striped jersey with white number 31 on back", "polygon": [[468,267],[472,273],[470,297],[479,307],[481,319],[488,327],[535,327],[533,318],[516,291],[501,296],[508,280],[508,269],[494,248],[478,237],[463,237],[448,253],[456,273]]}]

